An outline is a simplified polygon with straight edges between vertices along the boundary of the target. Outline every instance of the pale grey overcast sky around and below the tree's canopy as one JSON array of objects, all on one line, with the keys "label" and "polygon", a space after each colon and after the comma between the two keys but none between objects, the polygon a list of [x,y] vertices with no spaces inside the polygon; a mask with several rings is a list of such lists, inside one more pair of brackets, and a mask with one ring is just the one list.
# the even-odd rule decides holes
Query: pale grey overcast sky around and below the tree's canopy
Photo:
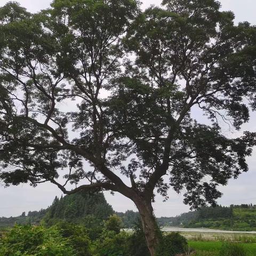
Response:
[{"label": "pale grey overcast sky around and below the tree's canopy", "polygon": [[[7,2],[9,1],[0,0],[0,6]],[[17,2],[30,12],[38,12],[49,7],[51,3],[50,0],[19,0]],[[159,5],[161,3],[160,0],[143,0],[142,2],[143,8],[151,4]],[[246,20],[256,25],[255,0],[221,0],[220,2],[223,10],[231,10],[235,13],[236,22]],[[197,119],[201,118],[201,114],[198,112],[194,113],[194,116]],[[255,114],[251,115],[251,121],[243,126],[243,130],[256,130]],[[250,167],[249,172],[240,175],[237,180],[231,180],[228,186],[221,188],[223,196],[219,199],[219,204],[256,204],[256,150],[254,150],[252,157],[248,158],[247,162]],[[52,203],[55,195],[61,196],[61,192],[50,183],[39,185],[37,188],[32,188],[28,185],[4,188],[0,185],[0,217],[17,216],[23,211],[27,213],[29,210],[46,208]],[[156,197],[154,209],[157,217],[175,216],[189,210],[188,206],[182,203],[182,195],[177,195],[170,191],[169,197],[169,200],[165,203],[163,203],[161,196]],[[116,193],[115,196],[111,196],[106,193],[106,199],[115,211],[136,210],[133,202],[120,194]]]}]

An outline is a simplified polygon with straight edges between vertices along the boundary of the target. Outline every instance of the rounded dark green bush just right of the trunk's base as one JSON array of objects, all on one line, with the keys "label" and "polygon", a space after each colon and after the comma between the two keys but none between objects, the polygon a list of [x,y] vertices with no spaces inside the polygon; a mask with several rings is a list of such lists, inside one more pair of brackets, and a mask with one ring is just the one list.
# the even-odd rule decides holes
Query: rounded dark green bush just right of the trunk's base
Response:
[{"label": "rounded dark green bush just right of the trunk's base", "polygon": [[175,256],[179,253],[185,253],[188,250],[188,243],[185,237],[179,233],[172,232],[162,235],[159,245],[156,249],[157,256]]}]

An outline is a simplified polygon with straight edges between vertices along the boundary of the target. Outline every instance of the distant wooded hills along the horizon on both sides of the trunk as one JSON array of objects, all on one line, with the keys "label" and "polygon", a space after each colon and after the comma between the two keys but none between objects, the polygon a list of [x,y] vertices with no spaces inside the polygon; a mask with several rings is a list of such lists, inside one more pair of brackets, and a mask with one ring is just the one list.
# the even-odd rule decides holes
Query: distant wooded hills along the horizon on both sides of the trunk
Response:
[{"label": "distant wooded hills along the horizon on both sides of the trunk", "polygon": [[[131,210],[114,212],[103,193],[79,192],[74,195],[55,197],[52,205],[40,211],[23,212],[19,217],[0,218],[0,228],[10,227],[15,223],[38,224],[44,221],[53,225],[58,220],[76,223],[97,223],[117,214],[123,220],[125,228],[132,228],[140,219],[139,213]],[[177,217],[157,218],[160,226],[180,226],[185,228],[212,228],[234,231],[256,231],[256,205],[242,204],[229,207],[204,207],[198,211],[182,213]]]}]

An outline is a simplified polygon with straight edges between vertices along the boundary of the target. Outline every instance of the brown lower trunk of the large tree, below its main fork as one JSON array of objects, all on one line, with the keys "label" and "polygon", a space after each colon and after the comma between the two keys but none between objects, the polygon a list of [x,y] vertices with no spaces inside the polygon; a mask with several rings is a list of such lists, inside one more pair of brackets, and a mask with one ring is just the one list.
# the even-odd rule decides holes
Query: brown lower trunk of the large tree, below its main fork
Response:
[{"label": "brown lower trunk of the large tree, below its main fork", "polygon": [[142,222],[143,231],[145,234],[148,250],[151,256],[155,255],[155,249],[158,244],[158,228],[156,218],[153,213],[151,202],[142,199],[134,200],[137,206]]}]

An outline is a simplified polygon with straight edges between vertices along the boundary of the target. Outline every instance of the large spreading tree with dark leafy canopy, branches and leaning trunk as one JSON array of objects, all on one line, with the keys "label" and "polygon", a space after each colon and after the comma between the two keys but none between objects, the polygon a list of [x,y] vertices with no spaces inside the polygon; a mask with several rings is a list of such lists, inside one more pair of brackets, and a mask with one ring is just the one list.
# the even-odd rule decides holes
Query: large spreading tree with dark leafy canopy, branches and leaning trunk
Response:
[{"label": "large spreading tree with dark leafy canopy, branches and leaning trunk", "polygon": [[215,205],[218,185],[248,170],[255,134],[226,137],[219,120],[239,130],[256,107],[256,28],[234,25],[219,2],[141,12],[135,0],[55,0],[37,14],[10,2],[0,34],[6,186],[118,191],[138,207],[154,255],[154,193]]}]

